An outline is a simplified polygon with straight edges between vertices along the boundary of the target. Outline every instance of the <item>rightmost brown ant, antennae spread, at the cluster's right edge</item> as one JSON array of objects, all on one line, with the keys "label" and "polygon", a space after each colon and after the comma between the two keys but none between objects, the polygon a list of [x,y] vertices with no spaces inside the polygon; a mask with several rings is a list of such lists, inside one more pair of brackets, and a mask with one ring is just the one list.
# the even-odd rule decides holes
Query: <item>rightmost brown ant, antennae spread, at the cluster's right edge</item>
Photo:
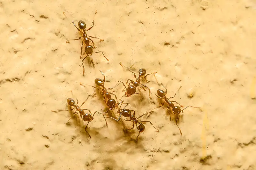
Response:
[{"label": "rightmost brown ant, antennae spread, at the cluster's right edge", "polygon": [[[164,85],[163,85],[162,83],[161,83],[161,85],[164,87]],[[181,86],[180,86],[180,88],[181,88]],[[177,92],[180,90],[180,88],[177,90]],[[164,87],[164,89],[165,89],[165,92],[164,92],[163,90],[161,90],[161,89],[158,89],[158,90],[157,90],[157,95],[156,95],[156,94],[155,94],[155,95],[156,95],[156,97],[158,97],[159,99],[164,99],[165,103],[167,104],[167,108],[168,108],[168,110],[169,110],[169,113],[170,113],[170,120],[171,120],[171,121],[172,121],[172,119],[171,119],[171,112],[173,112],[175,115],[178,115],[178,117],[177,117],[177,119],[176,119],[176,125],[177,125],[177,127],[179,128],[177,122],[178,122],[178,120],[179,120],[179,118],[180,118],[180,113],[181,113],[181,112],[183,113],[183,110],[185,110],[186,108],[188,108],[188,107],[193,107],[193,106],[187,106],[187,107],[185,107],[183,110],[181,110],[180,107],[183,107],[182,105],[180,105],[177,101],[174,101],[174,100],[170,101],[170,100],[169,100],[169,99],[174,98],[174,97],[176,96],[176,93],[177,93],[177,92],[174,94],[173,97],[167,98],[167,97],[166,97],[167,89],[166,89],[165,87]],[[177,103],[177,104],[180,105],[180,106],[174,106],[173,102]],[[164,106],[164,103],[162,104],[162,106]],[[162,107],[162,106],[159,106],[159,107]],[[172,111],[171,111],[170,108],[172,108]],[[199,109],[200,109],[200,107],[194,107],[194,108],[199,108]],[[179,128],[179,130],[180,130],[180,128]],[[180,135],[182,136],[181,130],[180,130]]]}]

